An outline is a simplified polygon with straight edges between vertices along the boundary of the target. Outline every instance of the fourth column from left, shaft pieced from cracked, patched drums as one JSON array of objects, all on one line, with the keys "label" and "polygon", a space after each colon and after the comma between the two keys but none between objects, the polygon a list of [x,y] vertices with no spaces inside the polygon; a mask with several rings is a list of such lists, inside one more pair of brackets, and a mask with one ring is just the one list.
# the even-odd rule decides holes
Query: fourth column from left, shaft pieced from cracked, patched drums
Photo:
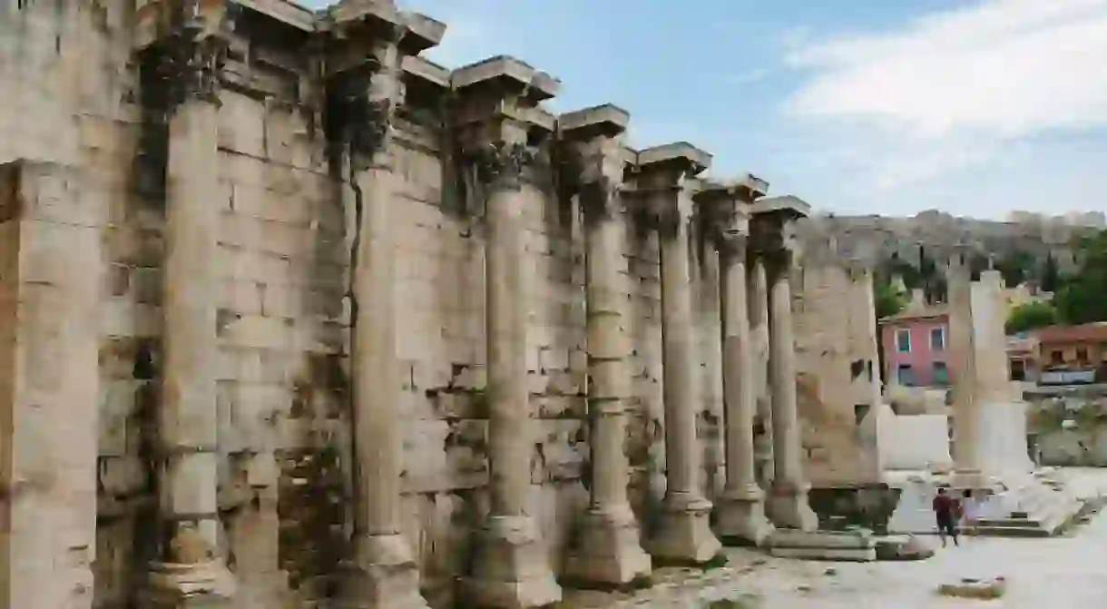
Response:
[{"label": "fourth column from left, shaft pieced from cracked, patched drums", "polygon": [[630,398],[627,336],[625,218],[620,194],[629,115],[602,105],[562,114],[558,127],[571,147],[570,176],[584,213],[588,311],[588,415],[591,424],[591,502],[580,545],[566,565],[582,584],[624,585],[650,575],[650,555],[627,499],[625,400]]}]

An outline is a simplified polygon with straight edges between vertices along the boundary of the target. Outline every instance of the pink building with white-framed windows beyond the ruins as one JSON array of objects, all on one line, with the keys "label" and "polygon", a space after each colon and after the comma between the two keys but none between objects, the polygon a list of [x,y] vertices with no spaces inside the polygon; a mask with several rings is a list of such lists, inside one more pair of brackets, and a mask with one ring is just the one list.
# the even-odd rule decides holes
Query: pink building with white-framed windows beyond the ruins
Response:
[{"label": "pink building with white-framed windows beyond the ruins", "polygon": [[884,379],[904,386],[946,386],[950,316],[944,304],[911,307],[880,320]]}]

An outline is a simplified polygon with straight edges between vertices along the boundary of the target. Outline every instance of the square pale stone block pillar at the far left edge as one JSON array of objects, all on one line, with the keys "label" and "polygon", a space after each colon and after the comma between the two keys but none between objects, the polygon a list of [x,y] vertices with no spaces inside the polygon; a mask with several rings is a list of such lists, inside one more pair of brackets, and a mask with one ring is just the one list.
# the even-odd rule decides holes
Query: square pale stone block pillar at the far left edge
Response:
[{"label": "square pale stone block pillar at the far left edge", "polygon": [[74,167],[0,165],[0,608],[89,609],[106,206]]}]

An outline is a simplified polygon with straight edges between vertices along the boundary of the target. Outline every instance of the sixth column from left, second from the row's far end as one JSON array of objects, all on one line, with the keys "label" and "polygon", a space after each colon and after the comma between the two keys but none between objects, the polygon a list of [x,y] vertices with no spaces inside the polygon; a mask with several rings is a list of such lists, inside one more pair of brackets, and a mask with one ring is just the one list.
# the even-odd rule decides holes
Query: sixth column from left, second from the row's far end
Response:
[{"label": "sixth column from left, second from the row's far end", "polygon": [[754,176],[727,186],[708,186],[699,194],[714,225],[721,261],[720,299],[723,318],[723,401],[726,486],[716,500],[716,531],[724,541],[762,545],[773,533],[765,517],[764,492],[754,463],[754,417],[757,383],[749,329],[746,241],[749,204],[768,185]]}]

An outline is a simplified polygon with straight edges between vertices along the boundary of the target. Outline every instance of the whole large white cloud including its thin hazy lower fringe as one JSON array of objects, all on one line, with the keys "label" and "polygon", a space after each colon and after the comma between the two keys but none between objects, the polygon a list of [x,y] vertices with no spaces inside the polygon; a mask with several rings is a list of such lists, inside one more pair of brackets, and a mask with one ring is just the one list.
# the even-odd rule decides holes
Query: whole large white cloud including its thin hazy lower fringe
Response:
[{"label": "whole large white cloud including its thin hazy lower fringe", "polygon": [[[847,206],[1048,208],[1028,197],[1057,176],[1035,169],[1069,153],[1038,141],[1107,130],[1107,0],[975,0],[890,31],[789,40],[787,63],[805,80],[787,115],[824,148]],[[980,200],[999,190],[1027,199]]]}]

